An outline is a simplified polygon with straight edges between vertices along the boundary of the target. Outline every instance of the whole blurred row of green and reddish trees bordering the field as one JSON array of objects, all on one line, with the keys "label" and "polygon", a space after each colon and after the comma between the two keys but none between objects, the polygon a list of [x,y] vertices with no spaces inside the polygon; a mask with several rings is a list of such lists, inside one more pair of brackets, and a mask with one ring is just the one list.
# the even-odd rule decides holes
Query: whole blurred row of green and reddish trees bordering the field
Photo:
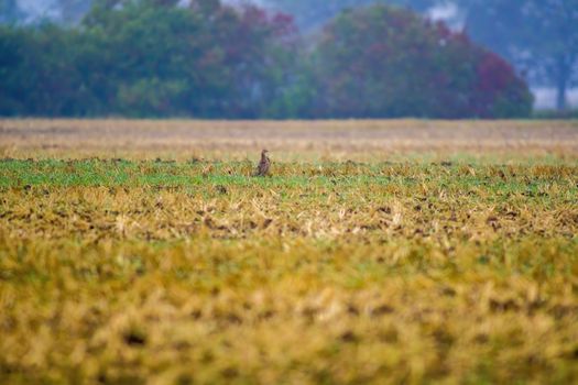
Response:
[{"label": "whole blurred row of green and reddish trees bordering the field", "polygon": [[75,26],[0,26],[0,114],[207,119],[514,118],[525,81],[410,10],[293,18],[219,0],[99,0]]}]

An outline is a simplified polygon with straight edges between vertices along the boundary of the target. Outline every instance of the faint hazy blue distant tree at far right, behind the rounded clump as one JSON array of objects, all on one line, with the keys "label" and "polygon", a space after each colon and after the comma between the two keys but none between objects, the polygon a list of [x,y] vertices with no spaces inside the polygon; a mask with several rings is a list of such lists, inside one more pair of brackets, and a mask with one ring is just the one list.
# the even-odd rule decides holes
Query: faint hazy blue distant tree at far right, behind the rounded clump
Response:
[{"label": "faint hazy blue distant tree at far right, behind the rounded clump", "polygon": [[501,53],[534,82],[567,89],[578,81],[578,0],[461,0],[472,37]]}]

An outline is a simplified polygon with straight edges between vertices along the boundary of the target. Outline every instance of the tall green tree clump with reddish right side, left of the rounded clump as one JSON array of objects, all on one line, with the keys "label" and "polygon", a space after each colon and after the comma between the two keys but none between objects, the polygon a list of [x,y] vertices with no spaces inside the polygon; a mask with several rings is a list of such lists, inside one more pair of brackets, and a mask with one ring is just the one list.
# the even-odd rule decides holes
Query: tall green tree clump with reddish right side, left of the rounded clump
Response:
[{"label": "tall green tree clump with reddish right side, left of the rounded clump", "polygon": [[96,44],[86,61],[91,85],[112,95],[122,114],[257,117],[291,50],[280,38],[290,40],[291,19],[210,0],[175,3],[96,7],[84,22]]}]

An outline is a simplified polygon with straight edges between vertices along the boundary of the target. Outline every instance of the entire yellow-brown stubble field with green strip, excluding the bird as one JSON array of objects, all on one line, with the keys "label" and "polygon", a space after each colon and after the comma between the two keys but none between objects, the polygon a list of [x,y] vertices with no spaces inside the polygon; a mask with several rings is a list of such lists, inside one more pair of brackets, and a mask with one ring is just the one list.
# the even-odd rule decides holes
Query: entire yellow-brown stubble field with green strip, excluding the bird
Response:
[{"label": "entire yellow-brown stubble field with green strip, excluding the bird", "polygon": [[0,383],[569,384],[577,326],[578,122],[0,121]]}]

